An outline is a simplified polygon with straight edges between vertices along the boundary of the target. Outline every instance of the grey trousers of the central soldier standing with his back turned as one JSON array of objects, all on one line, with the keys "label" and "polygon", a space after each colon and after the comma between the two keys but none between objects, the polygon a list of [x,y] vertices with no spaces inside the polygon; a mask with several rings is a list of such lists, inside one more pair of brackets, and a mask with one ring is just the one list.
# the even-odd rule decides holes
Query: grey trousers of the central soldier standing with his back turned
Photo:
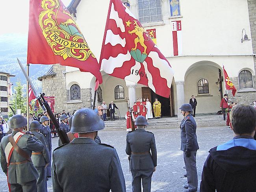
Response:
[{"label": "grey trousers of the central soldier standing with his back turned", "polygon": [[132,191],[141,192],[141,179],[143,192],[150,192],[151,189],[151,177],[153,169],[147,170],[131,170],[132,172]]}]

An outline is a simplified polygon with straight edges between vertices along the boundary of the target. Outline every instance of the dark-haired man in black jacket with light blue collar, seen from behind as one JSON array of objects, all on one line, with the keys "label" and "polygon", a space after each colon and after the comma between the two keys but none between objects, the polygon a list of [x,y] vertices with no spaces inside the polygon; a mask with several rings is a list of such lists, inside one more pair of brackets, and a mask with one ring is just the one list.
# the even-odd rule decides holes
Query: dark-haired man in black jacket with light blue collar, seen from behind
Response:
[{"label": "dark-haired man in black jacket with light blue collar, seen from behind", "polygon": [[230,112],[234,138],[209,152],[200,192],[252,192],[256,189],[256,109],[236,105]]}]

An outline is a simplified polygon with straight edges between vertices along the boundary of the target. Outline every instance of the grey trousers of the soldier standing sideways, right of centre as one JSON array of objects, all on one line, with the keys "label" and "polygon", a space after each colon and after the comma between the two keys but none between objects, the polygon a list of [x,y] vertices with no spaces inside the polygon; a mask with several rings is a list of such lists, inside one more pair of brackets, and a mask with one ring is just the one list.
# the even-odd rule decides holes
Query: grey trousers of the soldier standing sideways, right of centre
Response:
[{"label": "grey trousers of the soldier standing sideways, right of centre", "polygon": [[197,164],[196,164],[197,151],[191,151],[191,156],[186,157],[185,151],[183,157],[187,170],[187,184],[189,192],[197,191]]}]

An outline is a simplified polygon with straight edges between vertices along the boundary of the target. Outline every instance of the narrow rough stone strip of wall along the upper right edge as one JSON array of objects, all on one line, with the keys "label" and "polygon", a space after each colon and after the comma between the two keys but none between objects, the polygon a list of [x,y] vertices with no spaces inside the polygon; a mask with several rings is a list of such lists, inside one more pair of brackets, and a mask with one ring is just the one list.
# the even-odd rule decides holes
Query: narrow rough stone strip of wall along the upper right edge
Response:
[{"label": "narrow rough stone strip of wall along the upper right edge", "polygon": [[[249,38],[252,39],[253,54],[256,54],[256,0],[247,0],[249,9],[250,20],[250,32]],[[254,70],[256,72],[256,57],[254,56]],[[254,81],[254,87],[256,89],[256,82]]]}]

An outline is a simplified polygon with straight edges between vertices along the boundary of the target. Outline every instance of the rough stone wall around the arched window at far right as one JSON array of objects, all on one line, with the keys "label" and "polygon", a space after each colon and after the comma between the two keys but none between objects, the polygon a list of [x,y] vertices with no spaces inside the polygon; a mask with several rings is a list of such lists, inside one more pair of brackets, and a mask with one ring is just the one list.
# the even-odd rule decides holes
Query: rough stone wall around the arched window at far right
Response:
[{"label": "rough stone wall around the arched window at far right", "polygon": [[[254,83],[255,83],[256,76],[252,76],[252,78],[254,79]],[[236,87],[237,92],[236,92],[235,96],[233,96],[232,90],[228,90],[229,102],[236,102],[239,104],[241,104],[241,103],[249,104],[249,103],[252,103],[252,101],[256,99],[256,91],[253,87],[251,89],[248,89],[248,90],[252,90],[252,91],[239,92],[239,91],[241,91],[241,89],[238,88],[239,87],[238,77],[232,77],[230,79],[232,80],[234,86]]]}]

